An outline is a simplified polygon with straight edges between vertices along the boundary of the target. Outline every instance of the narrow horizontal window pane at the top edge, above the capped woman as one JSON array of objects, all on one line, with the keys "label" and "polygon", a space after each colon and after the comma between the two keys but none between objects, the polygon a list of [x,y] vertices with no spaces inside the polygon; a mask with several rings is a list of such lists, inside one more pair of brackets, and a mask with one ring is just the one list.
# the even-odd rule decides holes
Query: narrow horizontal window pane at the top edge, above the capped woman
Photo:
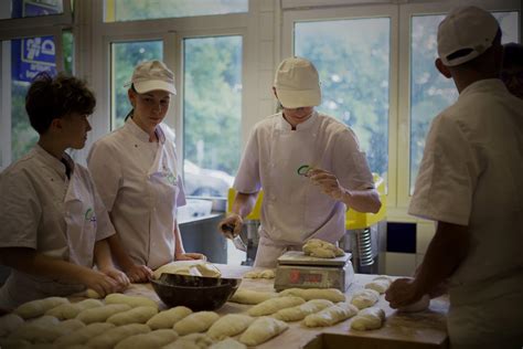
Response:
[{"label": "narrow horizontal window pane at the top edge, above the capped woman", "polygon": [[248,0],[105,0],[105,22],[180,18],[248,11]]}]

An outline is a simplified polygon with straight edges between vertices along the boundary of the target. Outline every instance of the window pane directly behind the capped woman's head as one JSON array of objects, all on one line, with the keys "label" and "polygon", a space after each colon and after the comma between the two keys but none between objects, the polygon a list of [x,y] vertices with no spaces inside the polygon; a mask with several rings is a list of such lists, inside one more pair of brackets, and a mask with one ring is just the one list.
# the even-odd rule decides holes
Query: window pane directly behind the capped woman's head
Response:
[{"label": "window pane directly behind the capped woman's head", "polygon": [[161,41],[135,41],[111,44],[111,129],[124,125],[131,109],[127,91],[135,66],[143,61],[163,61]]}]

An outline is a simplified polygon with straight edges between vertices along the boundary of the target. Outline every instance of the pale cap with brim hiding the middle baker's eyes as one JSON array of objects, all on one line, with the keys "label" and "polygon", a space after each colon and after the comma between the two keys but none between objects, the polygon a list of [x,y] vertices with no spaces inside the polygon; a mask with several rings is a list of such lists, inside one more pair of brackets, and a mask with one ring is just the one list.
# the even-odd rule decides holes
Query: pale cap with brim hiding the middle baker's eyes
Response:
[{"label": "pale cap with brim hiding the middle baker's eyes", "polygon": [[305,59],[284,60],[276,71],[274,86],[285,108],[311,107],[321,104],[318,71]]}]

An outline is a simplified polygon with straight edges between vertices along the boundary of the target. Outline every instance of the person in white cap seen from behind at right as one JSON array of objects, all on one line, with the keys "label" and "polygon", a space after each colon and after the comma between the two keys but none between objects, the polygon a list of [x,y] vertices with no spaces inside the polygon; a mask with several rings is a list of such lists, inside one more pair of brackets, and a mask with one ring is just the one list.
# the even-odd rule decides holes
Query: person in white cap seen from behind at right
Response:
[{"label": "person in white cap seen from behind at right", "polygon": [[477,7],[439,24],[441,74],[458,101],[433,121],[408,212],[437,222],[414,279],[385,298],[394,308],[448,279],[451,348],[523,346],[523,101],[500,80],[495,18]]}]

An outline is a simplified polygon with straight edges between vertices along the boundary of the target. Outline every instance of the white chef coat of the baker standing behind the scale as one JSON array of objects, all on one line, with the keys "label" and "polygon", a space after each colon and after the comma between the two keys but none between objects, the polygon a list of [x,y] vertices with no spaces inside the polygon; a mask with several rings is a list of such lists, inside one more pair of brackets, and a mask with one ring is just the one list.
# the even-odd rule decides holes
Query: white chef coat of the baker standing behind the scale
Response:
[{"label": "white chef coat of the baker standing behind the scale", "polygon": [[345,232],[345,204],[299,176],[302,165],[332,172],[350,190],[374,188],[356,136],[337,119],[314,112],[295,130],[281,113],[258,123],[234,182],[238,192],[264,189],[257,266],[274,266],[308,237],[334,243]]}]

